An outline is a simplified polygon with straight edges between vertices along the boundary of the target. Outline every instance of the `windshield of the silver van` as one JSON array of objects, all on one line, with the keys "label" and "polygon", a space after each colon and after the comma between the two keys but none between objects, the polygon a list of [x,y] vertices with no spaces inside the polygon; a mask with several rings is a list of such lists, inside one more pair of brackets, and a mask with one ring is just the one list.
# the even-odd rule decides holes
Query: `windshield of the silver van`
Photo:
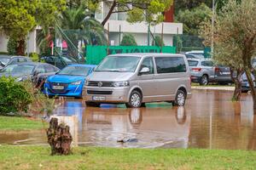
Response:
[{"label": "windshield of the silver van", "polygon": [[109,56],[102,61],[96,71],[134,72],[140,59],[131,56]]}]

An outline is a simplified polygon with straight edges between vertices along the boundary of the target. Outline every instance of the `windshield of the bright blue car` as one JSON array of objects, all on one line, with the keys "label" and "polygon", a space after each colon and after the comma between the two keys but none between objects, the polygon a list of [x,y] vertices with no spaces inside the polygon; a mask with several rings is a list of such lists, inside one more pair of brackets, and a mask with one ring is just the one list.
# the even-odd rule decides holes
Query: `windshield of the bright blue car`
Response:
[{"label": "windshield of the bright blue car", "polygon": [[67,66],[58,75],[69,75],[69,76],[87,76],[90,72],[90,67],[85,66]]}]

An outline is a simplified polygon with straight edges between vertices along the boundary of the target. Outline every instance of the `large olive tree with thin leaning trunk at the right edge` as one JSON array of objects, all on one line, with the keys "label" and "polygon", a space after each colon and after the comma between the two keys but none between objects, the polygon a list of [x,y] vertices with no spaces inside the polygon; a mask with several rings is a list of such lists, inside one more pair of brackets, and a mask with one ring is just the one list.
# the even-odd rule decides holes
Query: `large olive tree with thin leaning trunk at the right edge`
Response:
[{"label": "large olive tree with thin leaning trunk at the right edge", "polygon": [[[247,0],[229,2],[216,15],[213,29],[215,59],[227,60],[231,66],[243,68],[253,96],[253,109],[256,113],[256,90],[253,86],[251,60],[256,52],[256,1]],[[212,26],[208,22],[203,34],[208,40],[212,38]],[[216,52],[215,52],[216,51]],[[219,56],[218,56],[219,55]],[[226,58],[226,59],[225,59]]]}]

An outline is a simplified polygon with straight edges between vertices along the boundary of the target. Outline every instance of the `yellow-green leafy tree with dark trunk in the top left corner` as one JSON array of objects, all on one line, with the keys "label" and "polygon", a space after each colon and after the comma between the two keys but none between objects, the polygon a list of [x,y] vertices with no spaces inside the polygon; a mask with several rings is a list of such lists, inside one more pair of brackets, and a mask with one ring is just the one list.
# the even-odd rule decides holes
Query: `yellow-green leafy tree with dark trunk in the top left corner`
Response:
[{"label": "yellow-green leafy tree with dark trunk in the top left corner", "polygon": [[55,14],[65,7],[65,0],[0,1],[0,27],[17,42],[17,54],[25,54],[27,34],[37,26],[49,26]]}]

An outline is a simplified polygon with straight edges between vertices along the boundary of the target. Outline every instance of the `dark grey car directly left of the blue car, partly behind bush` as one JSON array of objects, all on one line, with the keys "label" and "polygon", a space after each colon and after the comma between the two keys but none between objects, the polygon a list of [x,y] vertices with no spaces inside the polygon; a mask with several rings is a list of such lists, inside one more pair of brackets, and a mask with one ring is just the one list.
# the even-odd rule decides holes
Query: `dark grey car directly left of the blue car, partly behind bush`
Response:
[{"label": "dark grey car directly left of the blue car, partly behind bush", "polygon": [[0,77],[15,77],[17,82],[31,79],[37,88],[43,88],[44,80],[60,71],[54,65],[46,63],[23,62],[8,65],[0,71]]}]

